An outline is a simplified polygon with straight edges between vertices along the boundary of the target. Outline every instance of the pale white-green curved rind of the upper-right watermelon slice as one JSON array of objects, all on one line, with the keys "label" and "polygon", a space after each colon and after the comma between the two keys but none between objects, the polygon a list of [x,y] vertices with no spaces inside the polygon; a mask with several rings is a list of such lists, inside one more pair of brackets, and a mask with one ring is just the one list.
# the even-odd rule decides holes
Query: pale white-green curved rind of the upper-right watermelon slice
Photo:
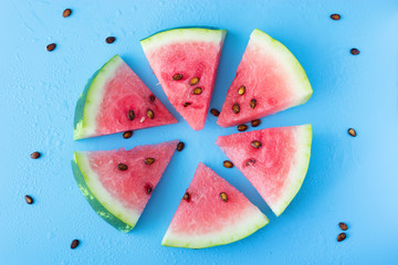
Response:
[{"label": "pale white-green curved rind of the upper-right watermelon slice", "polygon": [[266,54],[272,53],[272,56],[276,57],[277,62],[281,63],[286,71],[285,75],[286,81],[289,82],[287,87],[295,94],[292,96],[295,100],[292,102],[292,105],[289,107],[306,103],[310,99],[313,89],[303,66],[291,51],[289,51],[281,42],[272,39],[265,32],[258,29],[250,35],[249,44],[251,43],[261,47],[259,49],[259,52]]}]

